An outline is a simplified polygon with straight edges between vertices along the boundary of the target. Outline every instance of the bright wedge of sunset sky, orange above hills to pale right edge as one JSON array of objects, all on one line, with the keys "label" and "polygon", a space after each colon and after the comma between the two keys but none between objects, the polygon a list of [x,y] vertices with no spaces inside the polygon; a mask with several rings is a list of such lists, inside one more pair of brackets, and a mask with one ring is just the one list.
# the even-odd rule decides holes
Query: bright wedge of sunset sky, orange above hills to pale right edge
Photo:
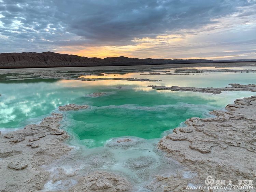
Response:
[{"label": "bright wedge of sunset sky, orange above hills to pale right edge", "polygon": [[245,19],[242,17],[234,20],[231,16],[218,18],[213,20],[214,23],[200,29],[166,31],[155,38],[134,38],[128,45],[82,44],[59,47],[56,51],[98,58],[125,56],[155,59],[253,59],[256,58],[254,44],[250,44],[250,41],[244,43],[241,39],[245,36],[253,38],[252,31],[256,22]]}]

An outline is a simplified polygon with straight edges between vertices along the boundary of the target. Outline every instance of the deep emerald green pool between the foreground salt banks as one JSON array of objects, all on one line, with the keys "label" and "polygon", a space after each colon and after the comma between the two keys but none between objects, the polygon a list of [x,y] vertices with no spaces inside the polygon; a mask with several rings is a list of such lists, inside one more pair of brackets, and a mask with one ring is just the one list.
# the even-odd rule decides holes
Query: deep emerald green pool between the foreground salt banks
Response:
[{"label": "deep emerald green pool between the foreground salt banks", "polygon": [[187,118],[204,117],[209,110],[213,109],[215,107],[211,105],[187,103],[151,107],[138,104],[92,106],[87,110],[69,113],[66,126],[70,132],[73,131],[79,137],[81,143],[88,147],[95,147],[103,145],[112,137],[158,138],[162,132],[177,127]]}]

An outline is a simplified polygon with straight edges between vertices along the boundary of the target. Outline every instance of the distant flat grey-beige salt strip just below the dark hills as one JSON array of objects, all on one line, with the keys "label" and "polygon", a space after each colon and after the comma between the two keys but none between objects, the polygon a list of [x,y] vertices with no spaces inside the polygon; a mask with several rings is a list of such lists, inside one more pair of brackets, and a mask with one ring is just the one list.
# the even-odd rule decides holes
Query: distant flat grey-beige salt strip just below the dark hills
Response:
[{"label": "distant flat grey-beige salt strip just below the dark hills", "polygon": [[[256,67],[256,62],[247,63],[193,63],[193,64],[162,64],[162,65],[130,65],[130,66],[109,66],[109,67],[65,67],[65,68],[28,68],[28,69],[0,69],[0,79],[2,80],[29,80],[29,79],[73,79],[73,80],[108,80],[102,73],[132,73],[148,72],[151,75],[170,75],[170,70],[174,70],[173,75],[196,75],[212,72],[227,73],[256,73],[256,70],[191,70],[191,67]],[[185,68],[185,69],[184,69]],[[165,70],[164,69],[170,69]],[[15,73],[15,77],[13,74]],[[97,75],[99,78],[79,78],[82,75]],[[144,74],[142,74],[143,77]],[[103,76],[103,77],[102,77]],[[131,81],[152,81],[151,79],[118,78],[119,80]],[[156,81],[156,80],[153,80]]]}]

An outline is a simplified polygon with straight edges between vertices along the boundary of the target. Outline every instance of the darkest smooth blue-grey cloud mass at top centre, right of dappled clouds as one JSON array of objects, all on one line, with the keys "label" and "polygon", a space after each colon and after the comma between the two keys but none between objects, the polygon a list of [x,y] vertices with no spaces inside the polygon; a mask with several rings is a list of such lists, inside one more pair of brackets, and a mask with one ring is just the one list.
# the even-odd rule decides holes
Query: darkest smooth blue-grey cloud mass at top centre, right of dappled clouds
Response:
[{"label": "darkest smooth blue-grey cloud mass at top centre, right of dappled clouds", "polygon": [[[118,41],[196,28],[253,2],[241,0],[56,1],[57,15],[70,32],[89,39]],[[71,9],[67,7],[71,6]],[[63,13],[63,11],[65,12]]]}]

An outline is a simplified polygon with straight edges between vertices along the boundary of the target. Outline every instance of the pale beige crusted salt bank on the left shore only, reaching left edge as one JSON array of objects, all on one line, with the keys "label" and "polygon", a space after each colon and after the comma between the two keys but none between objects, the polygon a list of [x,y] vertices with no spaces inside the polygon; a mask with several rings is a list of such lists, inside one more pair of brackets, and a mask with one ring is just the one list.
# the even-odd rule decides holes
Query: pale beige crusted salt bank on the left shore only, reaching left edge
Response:
[{"label": "pale beige crusted salt bank on the left shore only, reaching left edge", "polygon": [[[42,165],[67,155],[68,134],[59,130],[62,114],[53,113],[40,124],[0,135],[0,191],[39,191],[49,179]],[[61,135],[52,132],[62,131]],[[36,142],[36,143],[35,143]]]}]

